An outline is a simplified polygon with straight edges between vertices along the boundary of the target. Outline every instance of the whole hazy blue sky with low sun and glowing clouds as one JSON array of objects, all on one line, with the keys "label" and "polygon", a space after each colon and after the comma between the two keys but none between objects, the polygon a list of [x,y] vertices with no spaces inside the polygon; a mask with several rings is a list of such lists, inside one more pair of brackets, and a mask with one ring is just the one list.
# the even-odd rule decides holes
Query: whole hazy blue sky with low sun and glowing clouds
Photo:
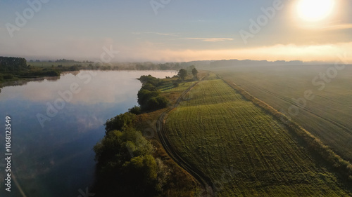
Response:
[{"label": "whole hazy blue sky with low sun and glowing clouds", "polygon": [[351,8],[350,0],[0,0],[0,56],[352,62]]}]

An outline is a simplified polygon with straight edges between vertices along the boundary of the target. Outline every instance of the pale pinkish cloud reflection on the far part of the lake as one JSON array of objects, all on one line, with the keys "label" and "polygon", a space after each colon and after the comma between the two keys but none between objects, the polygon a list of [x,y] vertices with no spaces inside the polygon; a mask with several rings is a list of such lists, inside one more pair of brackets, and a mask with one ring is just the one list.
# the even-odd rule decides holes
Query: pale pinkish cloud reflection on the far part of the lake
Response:
[{"label": "pale pinkish cloud reflection on the far part of the lake", "polygon": [[[25,82],[26,86],[9,88],[6,94],[1,94],[0,102],[4,100],[31,100],[34,102],[54,102],[70,91],[73,84],[77,84],[79,93],[73,93],[73,104],[97,104],[100,102],[125,102],[135,93],[134,88],[140,86],[135,80],[143,72],[96,72],[82,71],[76,76],[73,73],[61,76],[61,80],[44,79],[40,83]],[[165,72],[161,72],[165,73]],[[154,75],[162,76],[158,72]],[[174,73],[172,73],[174,74]],[[71,91],[72,92],[72,91]],[[134,95],[132,96],[134,97]]]}]

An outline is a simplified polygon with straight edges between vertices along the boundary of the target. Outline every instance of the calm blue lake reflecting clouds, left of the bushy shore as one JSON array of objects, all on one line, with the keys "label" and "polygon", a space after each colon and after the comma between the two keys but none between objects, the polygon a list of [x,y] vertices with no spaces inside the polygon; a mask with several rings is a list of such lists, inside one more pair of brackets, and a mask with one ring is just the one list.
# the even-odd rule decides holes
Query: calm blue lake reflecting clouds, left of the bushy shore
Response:
[{"label": "calm blue lake reflecting clouds, left of the bushy shore", "polygon": [[[175,71],[81,71],[17,83],[0,93],[0,196],[80,196],[108,118],[137,105],[139,76]],[[5,118],[11,117],[11,192],[5,191]],[[84,195],[82,195],[84,196]]]}]

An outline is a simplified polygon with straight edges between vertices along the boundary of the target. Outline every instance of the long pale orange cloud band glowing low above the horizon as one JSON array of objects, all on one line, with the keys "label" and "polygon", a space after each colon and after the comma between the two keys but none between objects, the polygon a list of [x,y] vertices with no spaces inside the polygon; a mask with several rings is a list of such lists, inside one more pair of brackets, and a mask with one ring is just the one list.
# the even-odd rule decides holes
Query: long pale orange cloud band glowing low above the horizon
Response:
[{"label": "long pale orange cloud band glowing low above the horizon", "polygon": [[139,58],[151,61],[192,61],[192,60],[302,60],[335,62],[339,55],[347,55],[352,64],[352,42],[326,45],[274,45],[253,48],[230,48],[220,50],[172,50],[139,48]]}]

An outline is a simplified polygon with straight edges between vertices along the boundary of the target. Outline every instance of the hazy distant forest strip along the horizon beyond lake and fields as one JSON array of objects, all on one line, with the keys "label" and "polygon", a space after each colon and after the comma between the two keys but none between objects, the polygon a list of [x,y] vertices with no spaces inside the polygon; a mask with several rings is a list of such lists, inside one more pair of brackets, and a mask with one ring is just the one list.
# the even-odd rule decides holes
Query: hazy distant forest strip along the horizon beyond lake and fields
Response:
[{"label": "hazy distant forest strip along the horizon beyond lake and fields", "polygon": [[[317,62],[318,63],[318,62]],[[27,60],[23,57],[0,57],[0,83],[4,81],[18,81],[43,76],[60,76],[61,72],[88,70],[180,70],[189,67],[212,69],[220,67],[251,67],[265,65],[299,65],[301,61],[266,60],[203,60],[192,62],[92,62],[88,60]],[[313,64],[310,62],[309,64]]]}]

